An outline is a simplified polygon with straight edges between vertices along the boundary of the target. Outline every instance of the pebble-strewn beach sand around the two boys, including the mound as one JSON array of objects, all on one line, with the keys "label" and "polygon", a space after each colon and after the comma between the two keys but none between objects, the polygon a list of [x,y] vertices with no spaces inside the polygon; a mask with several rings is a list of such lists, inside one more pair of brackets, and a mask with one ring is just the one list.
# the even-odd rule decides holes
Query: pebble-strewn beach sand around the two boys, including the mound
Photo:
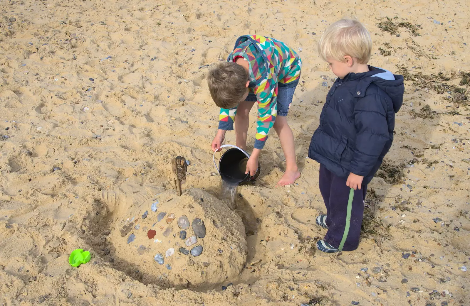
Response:
[{"label": "pebble-strewn beach sand around the two boys, including the mound", "polygon": [[[0,11],[0,305],[470,305],[467,2],[3,0]],[[406,92],[360,247],[325,255],[319,165],[305,157],[334,77],[316,44],[345,15],[367,25],[370,63],[405,74]],[[274,188],[272,131],[233,212],[217,199],[205,76],[248,33],[304,62],[288,117],[302,177]],[[251,144],[254,127],[253,116]],[[190,161],[181,197],[177,155]],[[195,246],[180,239],[183,214],[187,238],[204,221],[200,256],[180,252]],[[92,257],[72,268],[77,248]]]}]

